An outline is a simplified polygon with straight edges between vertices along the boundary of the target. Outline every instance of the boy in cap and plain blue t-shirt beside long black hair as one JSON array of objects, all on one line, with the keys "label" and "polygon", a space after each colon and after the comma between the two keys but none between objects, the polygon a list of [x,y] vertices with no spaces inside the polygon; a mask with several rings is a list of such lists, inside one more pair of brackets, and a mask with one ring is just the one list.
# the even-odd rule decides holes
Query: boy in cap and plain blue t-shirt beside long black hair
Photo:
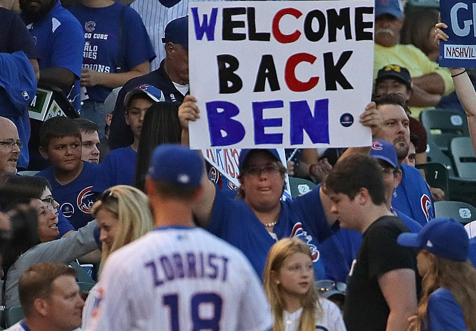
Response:
[{"label": "boy in cap and plain blue t-shirt beside long black hair", "polygon": [[102,162],[102,175],[98,178],[94,191],[102,192],[115,185],[131,185],[134,182],[136,170],[137,148],[145,113],[153,103],[164,101],[162,91],[152,85],[139,85],[126,94],[126,124],[134,133],[132,145],[114,149]]}]

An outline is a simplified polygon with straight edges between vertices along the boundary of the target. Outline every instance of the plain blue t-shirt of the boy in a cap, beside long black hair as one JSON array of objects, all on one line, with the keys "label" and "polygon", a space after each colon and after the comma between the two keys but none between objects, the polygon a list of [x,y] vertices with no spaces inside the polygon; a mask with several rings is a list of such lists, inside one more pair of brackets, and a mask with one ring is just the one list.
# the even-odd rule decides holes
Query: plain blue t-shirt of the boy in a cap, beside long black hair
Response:
[{"label": "plain blue t-shirt of the boy in a cap, beside long black hair", "polygon": [[101,176],[94,184],[94,192],[103,192],[115,185],[131,185],[136,174],[137,152],[130,146],[114,149],[101,164]]}]

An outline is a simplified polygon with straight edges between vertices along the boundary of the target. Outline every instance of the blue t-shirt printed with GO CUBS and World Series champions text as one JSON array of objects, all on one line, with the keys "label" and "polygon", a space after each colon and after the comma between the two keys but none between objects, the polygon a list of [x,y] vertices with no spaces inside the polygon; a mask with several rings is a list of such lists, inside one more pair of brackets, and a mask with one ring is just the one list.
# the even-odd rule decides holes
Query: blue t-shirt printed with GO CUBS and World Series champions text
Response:
[{"label": "blue t-shirt printed with GO CUBS and World Series champions text", "polygon": [[[83,67],[115,73],[119,60],[119,20],[124,5],[120,2],[91,8],[82,4],[69,8],[84,29]],[[152,43],[137,12],[126,6],[122,20],[122,72],[155,58]],[[112,89],[96,85],[86,87],[90,100],[103,102]]]}]

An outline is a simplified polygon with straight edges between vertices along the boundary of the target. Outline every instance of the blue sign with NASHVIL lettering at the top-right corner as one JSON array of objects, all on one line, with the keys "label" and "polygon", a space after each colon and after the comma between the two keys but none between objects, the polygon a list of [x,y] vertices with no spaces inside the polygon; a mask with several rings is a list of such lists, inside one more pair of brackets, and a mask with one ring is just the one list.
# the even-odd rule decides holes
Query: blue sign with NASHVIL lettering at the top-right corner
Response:
[{"label": "blue sign with NASHVIL lettering at the top-right corner", "polygon": [[440,66],[476,67],[476,1],[440,1],[448,41],[440,42]]}]

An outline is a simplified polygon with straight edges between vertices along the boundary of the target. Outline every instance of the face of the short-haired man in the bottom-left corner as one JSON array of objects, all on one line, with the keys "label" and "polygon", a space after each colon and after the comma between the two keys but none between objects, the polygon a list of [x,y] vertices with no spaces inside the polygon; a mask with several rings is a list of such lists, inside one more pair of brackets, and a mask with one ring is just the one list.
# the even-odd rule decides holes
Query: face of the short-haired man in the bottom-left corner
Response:
[{"label": "face of the short-haired man in the bottom-left corner", "polygon": [[60,276],[53,281],[53,292],[46,300],[49,326],[52,330],[70,331],[81,327],[85,305],[73,276]]}]

